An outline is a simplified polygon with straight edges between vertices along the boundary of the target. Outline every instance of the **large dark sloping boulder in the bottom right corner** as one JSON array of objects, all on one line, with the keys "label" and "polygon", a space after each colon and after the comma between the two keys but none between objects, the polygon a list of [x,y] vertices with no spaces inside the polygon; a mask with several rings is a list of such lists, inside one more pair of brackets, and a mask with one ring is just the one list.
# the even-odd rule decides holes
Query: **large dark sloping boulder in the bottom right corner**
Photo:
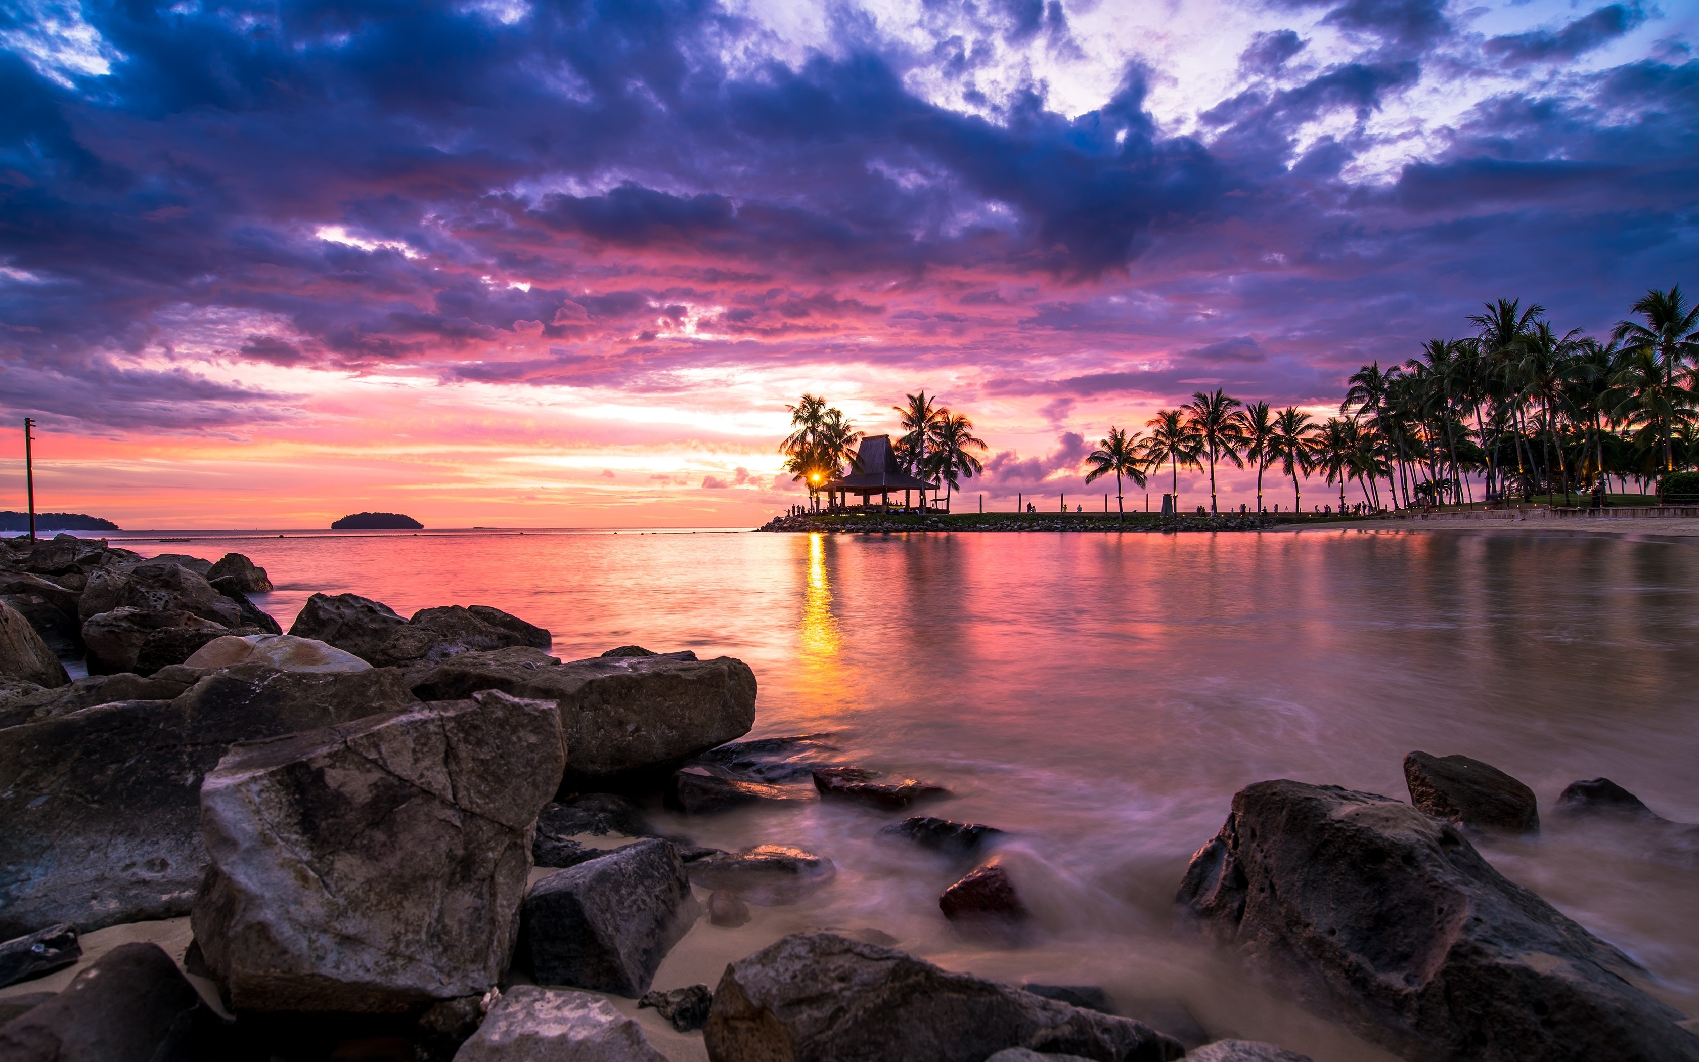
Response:
[{"label": "large dark sloping boulder in the bottom right corner", "polygon": [[1300,1003],[1407,1059],[1699,1059],[1628,957],[1388,797],[1250,785],[1177,902]]}]

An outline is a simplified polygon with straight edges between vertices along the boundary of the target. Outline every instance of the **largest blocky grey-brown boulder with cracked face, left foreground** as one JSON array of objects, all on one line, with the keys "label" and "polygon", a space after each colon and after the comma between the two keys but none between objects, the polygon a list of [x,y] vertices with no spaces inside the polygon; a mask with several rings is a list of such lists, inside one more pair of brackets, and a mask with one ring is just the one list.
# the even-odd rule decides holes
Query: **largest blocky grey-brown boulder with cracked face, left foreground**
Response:
[{"label": "largest blocky grey-brown boulder with cracked face, left foreground", "polygon": [[212,865],[192,914],[231,1006],[389,1013],[488,991],[564,766],[552,705],[500,692],[233,746],[200,787]]}]

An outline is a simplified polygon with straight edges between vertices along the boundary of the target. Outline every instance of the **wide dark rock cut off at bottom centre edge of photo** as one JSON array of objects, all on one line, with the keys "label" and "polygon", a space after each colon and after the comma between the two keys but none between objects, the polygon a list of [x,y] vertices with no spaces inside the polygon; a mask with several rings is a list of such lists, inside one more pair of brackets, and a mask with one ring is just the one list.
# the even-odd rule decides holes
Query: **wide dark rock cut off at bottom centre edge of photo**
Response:
[{"label": "wide dark rock cut off at bottom centre edge of photo", "polygon": [[833,933],[797,933],[731,963],[714,991],[703,1038],[714,1062],[982,1062],[1008,1047],[1098,1062],[1184,1054],[1128,1018],[950,974]]}]

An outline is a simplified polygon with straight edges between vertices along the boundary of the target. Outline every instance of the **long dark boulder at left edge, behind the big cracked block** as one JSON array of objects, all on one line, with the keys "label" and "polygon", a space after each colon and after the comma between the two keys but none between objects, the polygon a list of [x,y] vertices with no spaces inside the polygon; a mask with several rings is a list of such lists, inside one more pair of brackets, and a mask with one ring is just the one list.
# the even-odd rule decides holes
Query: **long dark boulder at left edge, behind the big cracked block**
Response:
[{"label": "long dark boulder at left edge, behind the big cracked block", "polygon": [[[182,668],[161,675],[189,676]],[[136,688],[150,681],[158,685]],[[104,683],[90,683],[88,697],[173,688],[138,676]],[[299,675],[243,664],[200,676],[173,700],[99,702],[0,729],[0,936],[61,921],[87,933],[189,914],[207,867],[200,780],[231,743],[411,703],[392,669]]]}]

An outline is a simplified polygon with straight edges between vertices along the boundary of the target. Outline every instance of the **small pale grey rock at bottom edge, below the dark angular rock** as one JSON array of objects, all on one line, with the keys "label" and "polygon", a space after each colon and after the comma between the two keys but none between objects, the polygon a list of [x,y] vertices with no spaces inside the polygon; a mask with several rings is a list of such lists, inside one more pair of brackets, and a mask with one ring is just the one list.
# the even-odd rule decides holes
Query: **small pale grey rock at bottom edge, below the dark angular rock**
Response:
[{"label": "small pale grey rock at bottom edge, below the dark angular rock", "polygon": [[666,1062],[642,1026],[586,992],[513,986],[455,1062]]}]

